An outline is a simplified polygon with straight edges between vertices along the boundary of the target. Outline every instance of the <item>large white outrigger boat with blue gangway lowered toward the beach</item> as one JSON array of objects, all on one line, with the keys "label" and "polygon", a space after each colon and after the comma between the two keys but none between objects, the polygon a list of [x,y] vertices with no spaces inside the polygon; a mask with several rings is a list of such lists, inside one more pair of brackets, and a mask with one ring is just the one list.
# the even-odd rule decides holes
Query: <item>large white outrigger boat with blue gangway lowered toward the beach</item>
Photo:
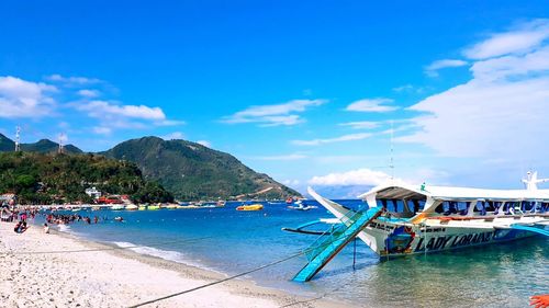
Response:
[{"label": "large white outrigger boat with blue gangway lowered toward the beach", "polygon": [[[484,246],[542,235],[549,237],[549,190],[538,190],[537,173],[523,180],[526,190],[410,185],[390,181],[359,197],[368,209],[350,209],[309,194],[336,220],[304,250],[309,263],[294,281],[310,281],[348,242],[358,238],[382,260]],[[305,224],[289,231],[315,233]]]}]

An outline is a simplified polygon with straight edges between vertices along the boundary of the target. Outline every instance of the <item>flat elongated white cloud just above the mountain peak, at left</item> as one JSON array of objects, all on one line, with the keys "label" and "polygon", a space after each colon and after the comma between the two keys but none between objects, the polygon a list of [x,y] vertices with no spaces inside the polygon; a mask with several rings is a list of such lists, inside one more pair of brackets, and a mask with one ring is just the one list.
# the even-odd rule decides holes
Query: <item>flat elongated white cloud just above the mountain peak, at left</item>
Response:
[{"label": "flat elongated white cloud just above the mountain peak, at left", "polygon": [[166,118],[160,107],[145,105],[119,105],[108,101],[78,102],[74,106],[88,112],[91,117],[122,116],[141,119],[163,121]]}]

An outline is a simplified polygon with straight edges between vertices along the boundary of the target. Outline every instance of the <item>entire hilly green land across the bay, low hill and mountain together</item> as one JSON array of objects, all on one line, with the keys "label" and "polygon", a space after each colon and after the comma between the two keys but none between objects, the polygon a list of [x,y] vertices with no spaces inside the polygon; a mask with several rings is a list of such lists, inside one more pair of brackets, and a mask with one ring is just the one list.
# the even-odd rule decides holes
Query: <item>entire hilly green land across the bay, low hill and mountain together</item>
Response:
[{"label": "entire hilly green land across the bay, low hill and mountain together", "polygon": [[48,139],[14,148],[0,134],[0,193],[27,203],[90,202],[85,190],[92,186],[135,203],[301,196],[228,153],[186,140],[143,137],[97,153],[67,145],[58,155]]}]

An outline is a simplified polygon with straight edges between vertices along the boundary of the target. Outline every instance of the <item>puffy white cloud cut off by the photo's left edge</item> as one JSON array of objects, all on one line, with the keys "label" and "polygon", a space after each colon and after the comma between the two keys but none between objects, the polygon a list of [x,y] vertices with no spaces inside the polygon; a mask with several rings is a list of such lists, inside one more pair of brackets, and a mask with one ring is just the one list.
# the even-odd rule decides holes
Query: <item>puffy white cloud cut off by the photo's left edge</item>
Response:
[{"label": "puffy white cloud cut off by the photo's left edge", "polygon": [[54,112],[51,93],[57,89],[42,82],[0,77],[0,117],[40,117]]}]

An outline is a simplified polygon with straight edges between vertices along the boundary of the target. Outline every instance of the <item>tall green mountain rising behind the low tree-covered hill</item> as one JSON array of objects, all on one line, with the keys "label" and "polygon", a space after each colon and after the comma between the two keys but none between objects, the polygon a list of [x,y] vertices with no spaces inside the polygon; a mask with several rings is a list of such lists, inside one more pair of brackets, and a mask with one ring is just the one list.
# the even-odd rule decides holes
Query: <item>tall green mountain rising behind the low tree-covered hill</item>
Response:
[{"label": "tall green mountain rising behind the low tree-covered hill", "polygon": [[135,162],[145,179],[158,181],[182,199],[301,195],[228,153],[191,141],[143,137],[119,144],[102,155]]}]

